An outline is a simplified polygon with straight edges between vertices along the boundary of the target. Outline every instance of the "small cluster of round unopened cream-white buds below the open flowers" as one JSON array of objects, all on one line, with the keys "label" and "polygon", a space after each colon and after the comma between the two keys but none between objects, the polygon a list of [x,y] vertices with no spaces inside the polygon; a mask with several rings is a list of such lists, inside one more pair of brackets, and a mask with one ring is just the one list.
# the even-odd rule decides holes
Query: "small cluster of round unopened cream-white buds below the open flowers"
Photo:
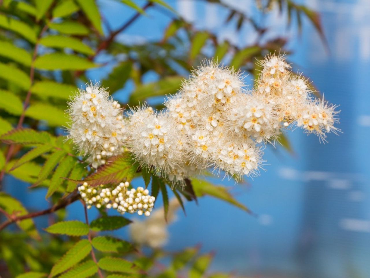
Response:
[{"label": "small cluster of round unopened cream-white buds below the open flowers", "polygon": [[87,204],[87,208],[91,208],[91,206],[114,208],[121,214],[137,212],[138,215],[149,216],[154,206],[155,197],[149,195],[148,189],[142,187],[128,189],[128,186],[129,182],[121,182],[111,190],[104,185],[92,187],[84,182],[78,187],[78,191]]}]

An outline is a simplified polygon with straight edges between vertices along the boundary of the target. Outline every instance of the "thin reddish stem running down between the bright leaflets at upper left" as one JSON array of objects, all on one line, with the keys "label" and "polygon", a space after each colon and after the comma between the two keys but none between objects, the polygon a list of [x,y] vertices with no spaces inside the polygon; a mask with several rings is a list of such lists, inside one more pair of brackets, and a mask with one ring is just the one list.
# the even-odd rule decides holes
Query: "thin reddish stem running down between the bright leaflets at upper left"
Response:
[{"label": "thin reddish stem running down between the bright leaflets at upper left", "polygon": [[[23,104],[23,110],[22,110],[22,114],[19,118],[19,121],[18,121],[18,124],[17,124],[17,128],[21,128],[22,125],[23,125],[23,121],[24,121],[24,117],[26,116],[26,109],[30,103],[30,99],[31,99],[31,88],[32,88],[32,85],[34,83],[34,77],[35,77],[35,66],[34,66],[34,63],[35,63],[35,60],[36,60],[36,56],[37,56],[37,50],[38,50],[38,45],[39,45],[39,42],[40,42],[40,39],[41,39],[41,36],[46,32],[46,30],[48,29],[48,25],[46,24],[43,29],[41,30],[40,34],[38,35],[38,38],[37,38],[37,41],[36,41],[36,44],[35,44],[35,49],[33,50],[33,56],[32,56],[32,61],[31,61],[31,67],[30,67],[30,88],[28,89],[28,92],[27,92],[27,95],[26,95],[26,99],[24,100],[24,104]],[[5,174],[5,169],[6,169],[6,165],[8,164],[12,154],[13,154],[13,150],[14,150],[14,144],[11,144],[9,149],[8,149],[8,153],[6,155],[6,159],[5,159],[5,163],[4,163],[4,167],[3,167],[3,170],[1,170],[1,173],[0,173],[0,182],[3,180],[4,178],[4,174]]]}]

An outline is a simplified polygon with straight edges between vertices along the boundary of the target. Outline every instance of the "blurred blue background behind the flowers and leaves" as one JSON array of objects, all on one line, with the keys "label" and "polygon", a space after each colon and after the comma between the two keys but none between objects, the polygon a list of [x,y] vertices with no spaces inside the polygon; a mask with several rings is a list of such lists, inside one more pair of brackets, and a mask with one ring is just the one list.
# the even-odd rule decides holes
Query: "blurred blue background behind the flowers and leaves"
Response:
[{"label": "blurred blue background behind the flowers and leaves", "polygon": [[[240,33],[224,26],[225,11],[213,4],[167,2],[196,27],[218,33],[221,39],[240,46],[255,40],[248,26]],[[255,9],[253,1],[227,2],[245,11]],[[294,29],[286,29],[277,13],[263,20],[267,27],[273,27],[271,37],[275,33],[292,39],[289,49],[293,54],[288,59],[294,69],[310,77],[325,99],[340,104],[339,128],[343,134],[329,135],[329,143],[324,145],[316,136],[306,136],[297,129],[288,134],[295,155],[268,147],[264,156],[269,164],[267,171],[248,180],[248,185],[214,180],[228,185],[235,198],[259,217],[208,197],[202,198],[199,205],[186,203],[187,216],[179,211],[178,220],[169,227],[171,236],[165,248],[175,251],[201,244],[202,251],[216,252],[212,271],[235,271],[252,277],[369,277],[370,3],[307,3],[322,13],[329,53],[306,20],[300,37]],[[134,13],[112,0],[101,0],[100,5],[112,29]],[[156,40],[170,20],[157,10],[148,10],[147,17],[140,17],[118,38],[129,43]],[[101,80],[109,67],[92,70],[91,79]],[[148,74],[145,81],[156,78]],[[114,97],[125,101],[132,88],[128,83]],[[135,185],[141,185],[141,181]],[[27,184],[11,177],[7,177],[5,189],[28,208],[48,206],[43,189],[33,191],[30,198]],[[96,215],[90,210],[90,219]],[[68,207],[67,218],[83,220],[80,203]],[[37,225],[47,226],[47,219],[38,218]],[[115,235],[128,238],[123,229]]]}]

